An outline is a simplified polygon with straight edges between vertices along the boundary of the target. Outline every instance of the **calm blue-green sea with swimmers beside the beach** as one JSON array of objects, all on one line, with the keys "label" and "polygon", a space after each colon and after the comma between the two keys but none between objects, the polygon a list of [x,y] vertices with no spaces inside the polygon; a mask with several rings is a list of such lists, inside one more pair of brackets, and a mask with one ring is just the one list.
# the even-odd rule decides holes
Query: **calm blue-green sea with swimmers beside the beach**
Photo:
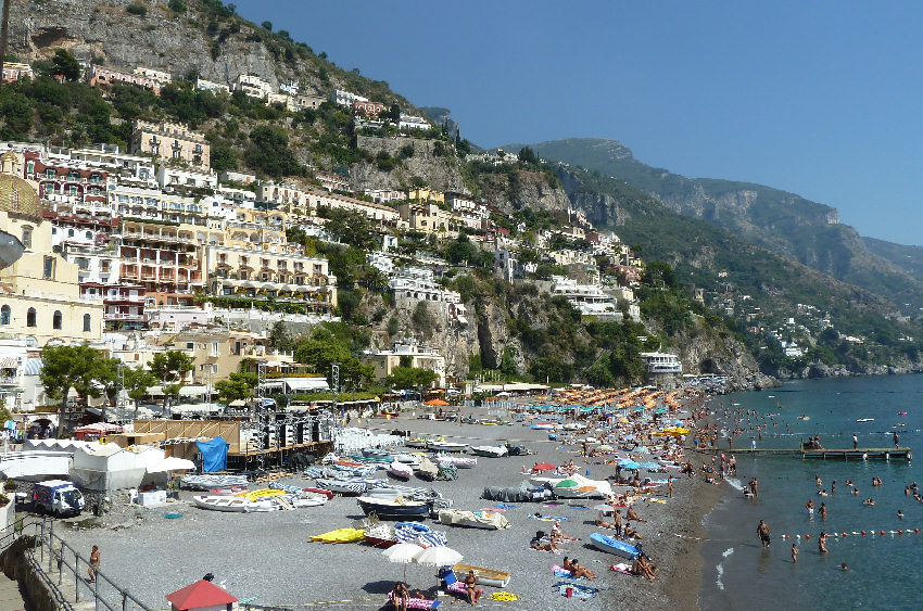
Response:
[{"label": "calm blue-green sea with swimmers beside the beach", "polygon": [[[723,417],[724,409],[755,410],[762,419],[750,421],[769,424],[763,438],[756,440],[758,448],[797,448],[810,435],[820,435],[826,448],[851,448],[854,434],[859,447],[885,448],[894,447],[897,431],[900,445],[911,447],[914,456],[919,451],[920,460],[735,455],[737,476],[722,484],[725,494],[704,522],[701,609],[923,609],[923,504],[905,495],[911,483],[923,487],[923,375],[793,381],[710,403],[725,429],[733,429],[734,421]],[[869,418],[874,420],[857,422]],[[736,437],[734,447],[750,447],[751,434],[757,436],[747,432]],[[725,431],[722,447],[726,436]],[[754,476],[759,494],[750,500],[742,491]],[[829,496],[818,494],[817,478]],[[874,478],[882,480],[881,486],[872,486]],[[851,494],[854,488],[858,495]],[[805,507],[810,498],[813,515]],[[868,498],[875,505],[863,505]],[[826,521],[817,509],[821,502]],[[766,550],[756,533],[760,520],[772,532]],[[829,535],[827,553],[819,552],[821,532]],[[793,544],[800,551],[797,564],[792,562]]]}]

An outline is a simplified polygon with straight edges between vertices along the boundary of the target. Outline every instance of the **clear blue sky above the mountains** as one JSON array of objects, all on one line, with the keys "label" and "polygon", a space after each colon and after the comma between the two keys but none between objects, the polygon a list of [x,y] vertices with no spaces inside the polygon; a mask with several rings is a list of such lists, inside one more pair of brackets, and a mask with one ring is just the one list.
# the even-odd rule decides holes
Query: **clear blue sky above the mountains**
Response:
[{"label": "clear blue sky above the mountains", "polygon": [[923,244],[921,2],[236,3],[477,144],[611,138]]}]

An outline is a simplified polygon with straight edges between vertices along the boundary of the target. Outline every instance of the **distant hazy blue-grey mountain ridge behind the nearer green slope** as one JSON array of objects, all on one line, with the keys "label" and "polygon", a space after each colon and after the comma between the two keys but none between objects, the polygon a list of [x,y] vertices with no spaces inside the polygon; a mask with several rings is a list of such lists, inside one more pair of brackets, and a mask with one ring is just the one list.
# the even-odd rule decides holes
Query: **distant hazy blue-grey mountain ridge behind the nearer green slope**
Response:
[{"label": "distant hazy blue-grey mountain ridge behind the nearer green slope", "polygon": [[836,208],[749,182],[686,178],[634,158],[616,140],[568,138],[530,147],[546,160],[624,180],[685,216],[856,284],[894,302],[905,314],[923,307],[923,249],[862,238],[839,222]]}]

